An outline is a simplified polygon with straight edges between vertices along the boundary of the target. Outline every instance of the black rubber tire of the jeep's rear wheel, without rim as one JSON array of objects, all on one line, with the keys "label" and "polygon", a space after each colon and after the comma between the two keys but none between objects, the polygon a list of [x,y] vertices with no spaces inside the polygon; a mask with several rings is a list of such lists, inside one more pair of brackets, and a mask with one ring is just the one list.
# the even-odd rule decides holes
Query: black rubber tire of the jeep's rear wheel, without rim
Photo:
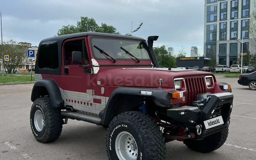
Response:
[{"label": "black rubber tire of the jeep's rear wheel, without rim", "polygon": [[57,140],[62,132],[62,125],[64,124],[62,116],[60,114],[61,110],[52,107],[51,100],[49,97],[40,97],[33,102],[33,105],[30,110],[30,116],[31,114],[34,114],[31,113],[31,111],[33,110],[36,104],[40,104],[40,107],[43,109],[46,125],[43,129],[45,130],[45,132],[43,133],[42,137],[37,137],[33,133],[35,139],[41,143],[50,143]]}]

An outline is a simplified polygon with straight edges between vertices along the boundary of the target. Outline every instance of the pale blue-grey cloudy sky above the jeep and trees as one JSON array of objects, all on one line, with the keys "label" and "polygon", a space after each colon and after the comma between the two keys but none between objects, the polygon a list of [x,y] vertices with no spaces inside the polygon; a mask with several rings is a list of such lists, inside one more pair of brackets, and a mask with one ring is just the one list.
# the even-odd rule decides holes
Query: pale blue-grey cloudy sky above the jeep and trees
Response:
[{"label": "pale blue-grey cloudy sky above the jeep and trees", "polygon": [[192,46],[203,55],[203,0],[10,0],[0,1],[3,41],[12,38],[38,46],[41,39],[52,37],[64,25],[76,25],[81,16],[113,25],[126,34],[147,38],[158,35],[154,47],[181,48],[190,56]]}]

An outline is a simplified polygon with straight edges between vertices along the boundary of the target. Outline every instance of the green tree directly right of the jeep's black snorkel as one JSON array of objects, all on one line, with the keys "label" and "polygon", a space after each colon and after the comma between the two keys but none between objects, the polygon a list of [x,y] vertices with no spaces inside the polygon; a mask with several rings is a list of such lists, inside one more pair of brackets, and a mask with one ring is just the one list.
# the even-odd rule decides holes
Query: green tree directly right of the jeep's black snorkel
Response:
[{"label": "green tree directly right of the jeep's black snorkel", "polygon": [[176,59],[168,53],[165,46],[154,48],[154,52],[156,54],[157,61],[161,67],[166,67],[166,68],[177,67]]}]

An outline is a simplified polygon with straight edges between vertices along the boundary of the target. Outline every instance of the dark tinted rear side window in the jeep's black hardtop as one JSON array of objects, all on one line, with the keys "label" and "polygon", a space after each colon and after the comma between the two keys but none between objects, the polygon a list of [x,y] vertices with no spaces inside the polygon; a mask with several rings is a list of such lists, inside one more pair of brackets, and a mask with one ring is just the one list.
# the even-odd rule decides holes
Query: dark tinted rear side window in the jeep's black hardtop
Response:
[{"label": "dark tinted rear side window in the jeep's black hardtop", "polygon": [[57,41],[45,41],[38,51],[38,67],[40,69],[57,69],[59,66],[59,54]]}]

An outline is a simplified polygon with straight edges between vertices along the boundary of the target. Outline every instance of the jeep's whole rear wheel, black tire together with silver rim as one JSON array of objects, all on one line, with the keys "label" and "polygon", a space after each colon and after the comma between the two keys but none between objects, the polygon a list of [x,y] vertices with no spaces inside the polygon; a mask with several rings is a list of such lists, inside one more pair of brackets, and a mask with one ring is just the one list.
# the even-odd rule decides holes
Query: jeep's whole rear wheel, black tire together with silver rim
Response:
[{"label": "jeep's whole rear wheel, black tire together with silver rim", "polygon": [[[60,112],[60,109],[52,107],[49,97],[40,97],[33,102],[30,110],[30,127],[37,141],[49,143],[59,138],[63,125]],[[37,121],[35,119],[38,119],[36,118],[38,115],[39,120]],[[41,124],[40,115],[42,115]]]}]

